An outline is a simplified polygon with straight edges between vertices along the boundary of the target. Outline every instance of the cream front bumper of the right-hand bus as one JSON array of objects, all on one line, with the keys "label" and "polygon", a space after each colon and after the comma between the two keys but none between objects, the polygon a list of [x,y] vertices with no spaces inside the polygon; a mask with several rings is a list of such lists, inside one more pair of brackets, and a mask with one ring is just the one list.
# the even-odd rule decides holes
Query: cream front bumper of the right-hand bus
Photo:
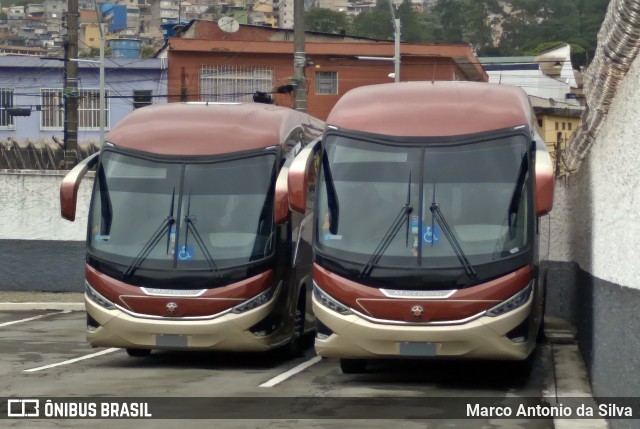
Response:
[{"label": "cream front bumper of the right-hand bus", "polygon": [[342,315],[313,297],[316,319],[332,333],[316,337],[320,356],[371,358],[452,358],[523,360],[533,350],[535,337],[514,342],[506,334],[527,319],[529,301],[497,317],[481,316],[459,325],[396,325],[374,323],[355,314]]}]

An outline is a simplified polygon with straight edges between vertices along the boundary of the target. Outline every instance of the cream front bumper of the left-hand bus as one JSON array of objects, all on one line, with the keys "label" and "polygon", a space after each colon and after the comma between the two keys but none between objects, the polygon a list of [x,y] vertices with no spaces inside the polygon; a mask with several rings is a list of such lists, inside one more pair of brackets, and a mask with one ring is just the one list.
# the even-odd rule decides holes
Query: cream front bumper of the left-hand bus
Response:
[{"label": "cream front bumper of the left-hand bus", "polygon": [[92,346],[169,350],[265,351],[274,347],[273,335],[258,336],[249,328],[267,317],[275,306],[267,304],[206,320],[149,319],[119,309],[107,310],[85,295],[87,314],[99,326],[87,329]]}]

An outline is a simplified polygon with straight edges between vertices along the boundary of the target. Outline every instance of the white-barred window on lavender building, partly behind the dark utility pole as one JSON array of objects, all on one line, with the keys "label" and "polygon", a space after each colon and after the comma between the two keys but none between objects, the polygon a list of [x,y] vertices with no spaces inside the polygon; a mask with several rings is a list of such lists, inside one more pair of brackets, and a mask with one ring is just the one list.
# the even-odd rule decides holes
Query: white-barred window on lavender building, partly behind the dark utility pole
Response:
[{"label": "white-barred window on lavender building, partly behind the dark utility pole", "polygon": [[[105,128],[109,128],[109,91],[105,91]],[[61,89],[42,89],[42,113],[40,129],[58,130],[64,128],[64,97]],[[100,90],[81,89],[78,91],[78,129],[83,131],[100,129]]]}]

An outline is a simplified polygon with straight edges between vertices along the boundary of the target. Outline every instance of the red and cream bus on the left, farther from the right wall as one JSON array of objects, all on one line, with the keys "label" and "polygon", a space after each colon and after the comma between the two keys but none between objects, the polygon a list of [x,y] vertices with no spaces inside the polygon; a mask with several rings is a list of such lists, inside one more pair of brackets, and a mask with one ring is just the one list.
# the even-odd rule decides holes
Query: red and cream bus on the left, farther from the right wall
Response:
[{"label": "red and cream bus on the left, farther from the right wall", "polygon": [[290,212],[287,178],[323,126],[265,104],[172,103],[119,122],[60,189],[62,216],[74,220],[96,165],[88,342],[132,356],[296,351],[314,327],[311,214]]}]

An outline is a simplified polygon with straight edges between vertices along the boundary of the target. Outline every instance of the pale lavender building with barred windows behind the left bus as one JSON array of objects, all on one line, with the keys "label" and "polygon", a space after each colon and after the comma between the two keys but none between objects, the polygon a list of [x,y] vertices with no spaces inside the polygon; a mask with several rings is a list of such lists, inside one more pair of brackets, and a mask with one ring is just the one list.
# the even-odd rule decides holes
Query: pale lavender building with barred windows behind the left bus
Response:
[{"label": "pale lavender building with barred windows behind the left bus", "polygon": [[[166,102],[164,59],[108,59],[105,65],[106,130],[136,105]],[[0,141],[62,140],[64,129],[62,61],[0,57]],[[99,66],[79,63],[78,141],[99,140]],[[28,116],[12,116],[15,109]]]}]

